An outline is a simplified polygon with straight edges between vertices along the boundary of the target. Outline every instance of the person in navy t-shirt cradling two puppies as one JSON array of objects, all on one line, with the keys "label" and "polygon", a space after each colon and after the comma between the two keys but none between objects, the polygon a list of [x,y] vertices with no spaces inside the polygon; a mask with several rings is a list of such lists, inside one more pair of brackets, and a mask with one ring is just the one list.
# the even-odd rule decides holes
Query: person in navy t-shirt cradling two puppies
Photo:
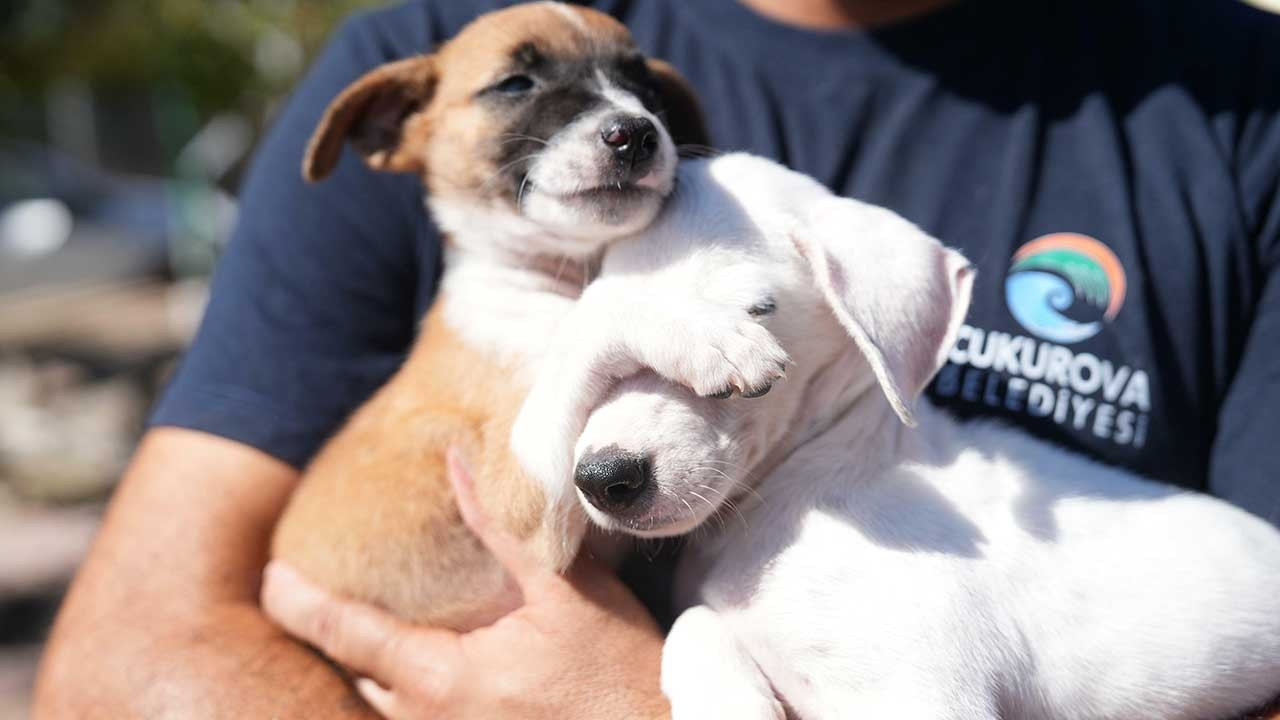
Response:
[{"label": "person in navy t-shirt cradling two puppies", "polygon": [[[932,400],[1280,523],[1280,20],[1190,0],[590,4],[686,74],[717,147],[975,261]],[[348,160],[306,187],[297,168],[342,87],[499,3],[460,5],[353,19],[276,122],[200,337],[59,618],[37,717],[369,712],[264,616],[259,584],[297,469],[402,360],[440,250],[415,179]],[[521,578],[539,588],[522,610],[461,637],[287,570],[268,597],[390,685],[365,688],[389,716],[663,715],[660,634],[616,579],[586,562]],[[603,684],[605,665],[631,671]]]}]

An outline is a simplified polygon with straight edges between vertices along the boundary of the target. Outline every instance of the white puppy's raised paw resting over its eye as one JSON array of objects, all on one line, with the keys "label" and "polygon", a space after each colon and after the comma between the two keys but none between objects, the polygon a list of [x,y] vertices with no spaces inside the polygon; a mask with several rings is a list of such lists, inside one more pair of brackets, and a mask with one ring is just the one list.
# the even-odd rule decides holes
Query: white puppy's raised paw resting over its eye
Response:
[{"label": "white puppy's raised paw resting over its eye", "polygon": [[786,351],[749,309],[710,302],[657,328],[641,345],[645,365],[703,397],[760,397],[786,375]]}]

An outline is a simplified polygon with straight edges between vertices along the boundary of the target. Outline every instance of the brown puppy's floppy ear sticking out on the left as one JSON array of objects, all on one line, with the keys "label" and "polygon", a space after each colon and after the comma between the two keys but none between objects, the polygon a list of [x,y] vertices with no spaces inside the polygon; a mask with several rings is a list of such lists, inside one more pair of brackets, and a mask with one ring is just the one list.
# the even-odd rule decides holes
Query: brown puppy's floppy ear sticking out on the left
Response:
[{"label": "brown puppy's floppy ear sticking out on the left", "polygon": [[435,78],[435,59],[424,55],[388,63],[347,86],[311,135],[302,177],[316,182],[332,173],[347,140],[376,170],[421,172],[422,137],[406,123],[431,101]]}]

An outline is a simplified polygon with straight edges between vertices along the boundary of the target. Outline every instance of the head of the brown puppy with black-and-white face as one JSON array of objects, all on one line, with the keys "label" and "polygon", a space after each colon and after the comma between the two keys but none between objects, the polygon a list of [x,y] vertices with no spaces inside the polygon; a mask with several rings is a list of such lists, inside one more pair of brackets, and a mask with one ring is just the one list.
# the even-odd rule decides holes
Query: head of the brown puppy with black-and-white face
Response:
[{"label": "head of the brown puppy with black-and-white face", "polygon": [[[648,224],[671,191],[666,108],[680,105],[700,128],[684,81],[645,60],[617,20],[584,8],[489,13],[436,54],[402,63],[361,81],[334,115],[349,122],[334,132],[398,123],[398,132],[362,133],[372,141],[358,147],[379,169],[420,172],[451,234],[502,215],[504,237],[541,243],[521,250],[590,254]],[[402,78],[415,79],[412,92]],[[361,118],[384,108],[379,126]],[[335,161],[333,147],[323,158]]]}]

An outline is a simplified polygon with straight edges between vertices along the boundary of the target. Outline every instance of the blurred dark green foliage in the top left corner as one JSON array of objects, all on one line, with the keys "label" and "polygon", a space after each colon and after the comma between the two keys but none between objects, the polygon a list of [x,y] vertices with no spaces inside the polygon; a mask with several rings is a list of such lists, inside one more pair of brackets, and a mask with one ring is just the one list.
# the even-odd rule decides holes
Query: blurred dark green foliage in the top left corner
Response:
[{"label": "blurred dark green foliage in the top left corner", "polygon": [[219,113],[260,127],[342,18],[379,4],[0,0],[0,136],[41,140],[49,94],[68,82],[163,105],[152,114],[187,118],[186,132]]}]

